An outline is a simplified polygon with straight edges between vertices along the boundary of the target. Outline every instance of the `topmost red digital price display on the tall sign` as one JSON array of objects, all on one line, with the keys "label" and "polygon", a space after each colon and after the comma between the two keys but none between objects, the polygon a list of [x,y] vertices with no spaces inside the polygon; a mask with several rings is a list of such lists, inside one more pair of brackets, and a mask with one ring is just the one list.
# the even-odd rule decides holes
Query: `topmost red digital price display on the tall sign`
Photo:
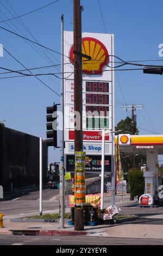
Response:
[{"label": "topmost red digital price display on the tall sign", "polygon": [[109,83],[86,82],[86,92],[109,93]]}]

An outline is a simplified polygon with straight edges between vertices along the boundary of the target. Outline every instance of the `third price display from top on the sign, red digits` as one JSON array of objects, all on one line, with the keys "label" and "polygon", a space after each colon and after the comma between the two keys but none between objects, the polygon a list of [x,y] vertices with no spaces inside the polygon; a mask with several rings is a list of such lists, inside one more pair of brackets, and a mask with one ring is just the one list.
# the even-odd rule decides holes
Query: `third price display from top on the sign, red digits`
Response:
[{"label": "third price display from top on the sign, red digits", "polygon": [[106,106],[85,106],[86,115],[100,115],[108,117],[109,107]]}]

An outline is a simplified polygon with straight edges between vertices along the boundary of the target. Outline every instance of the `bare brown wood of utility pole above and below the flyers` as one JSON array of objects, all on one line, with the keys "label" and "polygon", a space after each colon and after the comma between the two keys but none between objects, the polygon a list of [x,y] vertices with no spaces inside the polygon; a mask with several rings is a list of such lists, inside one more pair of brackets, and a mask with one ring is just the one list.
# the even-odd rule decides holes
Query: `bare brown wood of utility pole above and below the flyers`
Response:
[{"label": "bare brown wood of utility pole above and below the flyers", "polygon": [[[73,0],[74,151],[83,151],[82,21],[80,0]],[[78,113],[78,115],[76,115]],[[84,209],[74,206],[74,230],[84,230]]]}]

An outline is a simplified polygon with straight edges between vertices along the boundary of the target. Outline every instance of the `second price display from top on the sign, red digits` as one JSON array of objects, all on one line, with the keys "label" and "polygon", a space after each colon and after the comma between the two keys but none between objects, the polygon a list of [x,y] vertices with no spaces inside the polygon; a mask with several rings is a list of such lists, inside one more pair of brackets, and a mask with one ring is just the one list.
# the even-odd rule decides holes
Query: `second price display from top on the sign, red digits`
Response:
[{"label": "second price display from top on the sign, red digits", "polygon": [[86,104],[109,105],[109,95],[105,94],[86,94]]}]

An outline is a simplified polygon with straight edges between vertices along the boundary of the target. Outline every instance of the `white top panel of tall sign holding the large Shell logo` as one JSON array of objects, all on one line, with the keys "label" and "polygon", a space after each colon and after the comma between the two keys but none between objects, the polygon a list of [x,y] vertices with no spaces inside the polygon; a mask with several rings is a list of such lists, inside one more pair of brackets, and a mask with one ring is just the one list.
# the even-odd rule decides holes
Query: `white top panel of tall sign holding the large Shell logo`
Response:
[{"label": "white top panel of tall sign holding the large Shell logo", "polygon": [[[99,34],[99,33],[82,33],[82,52],[92,57],[92,62],[86,60],[83,62],[83,70],[88,70],[88,75],[84,74],[84,80],[95,80],[95,81],[112,81],[112,66],[114,65],[114,35],[112,34]],[[71,47],[73,46],[73,32],[65,31],[64,32],[64,52],[65,56],[71,55]],[[109,66],[103,65],[103,60],[105,62],[106,51],[109,54]],[[71,56],[70,56],[71,60]],[[67,63],[67,58],[65,57],[64,63]],[[104,63],[105,64],[105,63]],[[90,67],[92,67],[91,75],[89,74]],[[99,74],[96,74],[96,71],[102,71]],[[73,73],[73,63],[66,65],[66,72]],[[95,75],[93,75],[93,71]],[[68,74],[68,73],[67,73]],[[73,74],[70,77],[73,80]]]}]

